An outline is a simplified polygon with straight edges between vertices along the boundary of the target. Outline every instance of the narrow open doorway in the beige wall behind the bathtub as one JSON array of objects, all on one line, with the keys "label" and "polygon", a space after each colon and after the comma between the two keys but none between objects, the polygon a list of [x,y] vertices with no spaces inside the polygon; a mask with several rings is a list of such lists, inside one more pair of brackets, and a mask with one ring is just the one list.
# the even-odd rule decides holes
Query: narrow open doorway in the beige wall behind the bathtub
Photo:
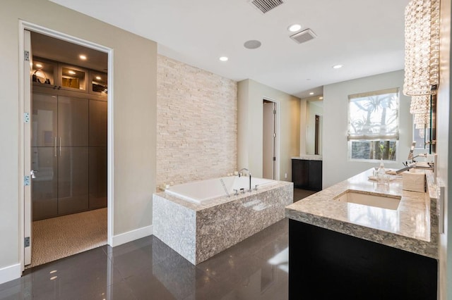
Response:
[{"label": "narrow open doorway in the beige wall behind the bathtub", "polygon": [[262,177],[276,180],[277,173],[277,104],[263,99]]}]

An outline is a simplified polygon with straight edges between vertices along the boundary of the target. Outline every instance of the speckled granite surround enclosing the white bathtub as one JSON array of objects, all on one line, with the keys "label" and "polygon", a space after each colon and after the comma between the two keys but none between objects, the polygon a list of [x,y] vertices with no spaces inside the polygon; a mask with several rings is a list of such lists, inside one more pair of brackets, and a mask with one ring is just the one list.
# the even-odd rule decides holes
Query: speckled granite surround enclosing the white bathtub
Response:
[{"label": "speckled granite surround enclosing the white bathtub", "polygon": [[153,194],[153,233],[196,265],[285,218],[292,199],[292,182],[203,204],[160,192]]}]

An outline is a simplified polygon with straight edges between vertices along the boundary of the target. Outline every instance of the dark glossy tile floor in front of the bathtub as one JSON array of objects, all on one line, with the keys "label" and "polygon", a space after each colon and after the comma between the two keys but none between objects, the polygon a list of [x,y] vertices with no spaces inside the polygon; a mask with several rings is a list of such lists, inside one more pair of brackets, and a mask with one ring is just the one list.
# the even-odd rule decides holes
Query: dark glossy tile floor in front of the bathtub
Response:
[{"label": "dark glossy tile floor in front of the bathtub", "polygon": [[25,270],[0,299],[284,300],[287,272],[284,219],[198,265],[154,236],[101,246]]}]

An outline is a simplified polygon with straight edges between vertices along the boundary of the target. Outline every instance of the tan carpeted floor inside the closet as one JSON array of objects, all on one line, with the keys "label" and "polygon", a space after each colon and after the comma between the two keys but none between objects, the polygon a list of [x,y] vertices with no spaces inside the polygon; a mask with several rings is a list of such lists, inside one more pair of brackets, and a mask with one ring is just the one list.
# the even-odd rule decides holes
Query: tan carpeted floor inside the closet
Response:
[{"label": "tan carpeted floor inside the closet", "polygon": [[107,244],[107,208],[32,223],[28,268]]}]

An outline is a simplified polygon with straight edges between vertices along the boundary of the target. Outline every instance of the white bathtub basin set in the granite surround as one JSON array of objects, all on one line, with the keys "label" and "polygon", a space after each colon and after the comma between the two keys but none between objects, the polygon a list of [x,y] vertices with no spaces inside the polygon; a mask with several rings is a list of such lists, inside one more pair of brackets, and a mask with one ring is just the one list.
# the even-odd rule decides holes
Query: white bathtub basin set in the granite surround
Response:
[{"label": "white bathtub basin set in the granite surround", "polygon": [[[237,189],[239,193],[241,192],[240,189],[244,189],[245,192],[249,190],[249,177],[229,176],[173,185],[165,189],[165,192],[197,204],[202,204],[204,201],[226,196],[221,180],[225,182],[227,192],[231,196],[235,194],[234,189]],[[276,180],[251,177],[252,189],[255,189],[256,186],[259,189],[277,183],[278,181]]]}]

